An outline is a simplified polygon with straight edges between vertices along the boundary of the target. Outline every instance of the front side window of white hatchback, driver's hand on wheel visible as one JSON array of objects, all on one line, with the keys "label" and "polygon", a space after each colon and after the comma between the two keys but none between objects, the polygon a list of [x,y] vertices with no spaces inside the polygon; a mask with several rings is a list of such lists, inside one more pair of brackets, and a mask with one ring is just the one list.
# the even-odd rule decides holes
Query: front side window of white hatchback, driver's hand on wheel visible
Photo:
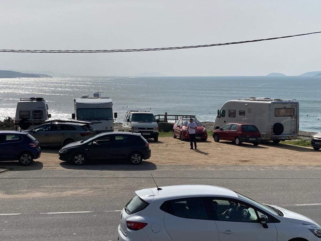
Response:
[{"label": "front side window of white hatchback, driver's hand on wheel visible", "polygon": [[256,211],[246,203],[228,198],[214,198],[211,201],[213,209],[216,212],[217,219],[220,221],[249,223],[259,222]]}]

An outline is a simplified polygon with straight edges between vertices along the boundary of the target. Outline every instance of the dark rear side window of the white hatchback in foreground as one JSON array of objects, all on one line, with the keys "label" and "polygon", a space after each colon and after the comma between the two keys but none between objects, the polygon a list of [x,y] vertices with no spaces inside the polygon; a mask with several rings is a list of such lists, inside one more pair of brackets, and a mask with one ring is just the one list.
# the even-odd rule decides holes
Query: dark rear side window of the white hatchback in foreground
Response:
[{"label": "dark rear side window of the white hatchback in foreground", "polygon": [[209,219],[203,198],[182,198],[162,204],[161,210],[185,219]]}]

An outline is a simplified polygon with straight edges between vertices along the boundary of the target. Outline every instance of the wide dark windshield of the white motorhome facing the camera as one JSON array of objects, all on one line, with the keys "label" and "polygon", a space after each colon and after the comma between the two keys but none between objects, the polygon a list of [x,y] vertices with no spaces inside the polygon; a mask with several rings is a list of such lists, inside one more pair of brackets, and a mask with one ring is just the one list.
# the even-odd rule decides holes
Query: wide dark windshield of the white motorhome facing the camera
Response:
[{"label": "wide dark windshield of the white motorhome facing the camera", "polygon": [[77,110],[78,120],[113,120],[111,108],[83,108]]}]

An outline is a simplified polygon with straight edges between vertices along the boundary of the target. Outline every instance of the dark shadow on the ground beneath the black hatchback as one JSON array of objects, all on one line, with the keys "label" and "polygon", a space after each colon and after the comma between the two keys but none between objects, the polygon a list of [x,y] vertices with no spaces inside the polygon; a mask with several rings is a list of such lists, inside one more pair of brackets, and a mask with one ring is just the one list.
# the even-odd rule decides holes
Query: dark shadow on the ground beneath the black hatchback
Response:
[{"label": "dark shadow on the ground beneath the black hatchback", "polygon": [[131,165],[127,160],[106,160],[106,161],[91,161],[87,164],[77,166],[72,162],[61,162],[60,166],[65,169],[72,170],[97,170],[97,171],[153,171],[157,166],[149,161],[143,161],[139,165]]}]

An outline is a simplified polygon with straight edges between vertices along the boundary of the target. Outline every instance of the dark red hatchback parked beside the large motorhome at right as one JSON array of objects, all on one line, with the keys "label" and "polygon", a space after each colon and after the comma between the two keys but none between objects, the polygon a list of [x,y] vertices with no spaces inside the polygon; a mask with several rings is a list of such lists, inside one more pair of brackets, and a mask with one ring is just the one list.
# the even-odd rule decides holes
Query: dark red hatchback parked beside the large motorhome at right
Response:
[{"label": "dark red hatchback parked beside the large motorhome at right", "polygon": [[261,142],[261,133],[255,125],[243,123],[228,123],[220,129],[213,131],[215,142],[229,140],[241,145],[242,142],[251,142],[257,146]]}]

